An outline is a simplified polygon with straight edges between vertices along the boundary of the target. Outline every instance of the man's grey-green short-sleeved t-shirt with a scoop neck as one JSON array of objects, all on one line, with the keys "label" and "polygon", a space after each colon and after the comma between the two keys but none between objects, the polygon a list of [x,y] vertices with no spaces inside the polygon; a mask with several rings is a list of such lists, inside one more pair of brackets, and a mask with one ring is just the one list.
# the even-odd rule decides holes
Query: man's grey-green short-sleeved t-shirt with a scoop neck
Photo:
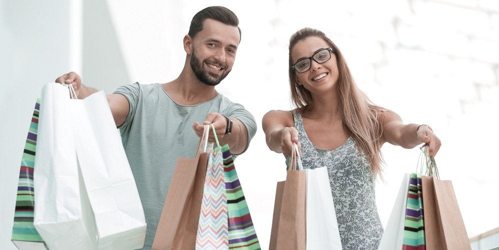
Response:
[{"label": "man's grey-green short-sleeved t-shirt with a scoop neck", "polygon": [[192,128],[210,112],[239,119],[248,132],[248,144],[256,133],[253,115],[222,94],[192,106],[176,103],[162,84],[119,87],[130,103],[127,119],[119,127],[123,146],[137,183],[147,222],[144,249],[151,249],[158,221],[178,157],[193,157],[200,138]]}]

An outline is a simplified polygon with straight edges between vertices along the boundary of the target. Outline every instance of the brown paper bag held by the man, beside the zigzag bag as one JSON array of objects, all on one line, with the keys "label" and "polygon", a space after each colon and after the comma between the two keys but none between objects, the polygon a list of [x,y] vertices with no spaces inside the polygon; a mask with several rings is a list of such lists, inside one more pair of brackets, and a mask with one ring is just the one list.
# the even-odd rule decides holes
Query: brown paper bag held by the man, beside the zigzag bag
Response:
[{"label": "brown paper bag held by the man, beside the zigzag bag", "polygon": [[152,249],[194,249],[208,165],[208,132],[193,158],[179,157],[161,212]]}]

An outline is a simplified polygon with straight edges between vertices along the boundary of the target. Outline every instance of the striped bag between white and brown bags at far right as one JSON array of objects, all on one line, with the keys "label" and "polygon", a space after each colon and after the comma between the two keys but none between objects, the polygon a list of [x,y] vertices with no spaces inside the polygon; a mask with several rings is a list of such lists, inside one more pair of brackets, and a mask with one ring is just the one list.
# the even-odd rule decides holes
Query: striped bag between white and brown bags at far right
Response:
[{"label": "striped bag between white and brown bags at far right", "polygon": [[424,250],[423,193],[421,174],[411,173],[407,191],[403,250]]}]

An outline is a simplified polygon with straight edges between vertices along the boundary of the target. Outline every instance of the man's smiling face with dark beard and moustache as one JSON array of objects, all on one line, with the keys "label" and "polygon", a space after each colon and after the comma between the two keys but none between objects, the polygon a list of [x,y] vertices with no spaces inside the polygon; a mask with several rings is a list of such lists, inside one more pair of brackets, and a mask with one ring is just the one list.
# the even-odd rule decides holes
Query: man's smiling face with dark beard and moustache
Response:
[{"label": "man's smiling face with dark beard and moustache", "polygon": [[217,85],[232,69],[239,44],[236,26],[206,19],[203,30],[192,42],[191,68],[196,77],[208,85]]}]

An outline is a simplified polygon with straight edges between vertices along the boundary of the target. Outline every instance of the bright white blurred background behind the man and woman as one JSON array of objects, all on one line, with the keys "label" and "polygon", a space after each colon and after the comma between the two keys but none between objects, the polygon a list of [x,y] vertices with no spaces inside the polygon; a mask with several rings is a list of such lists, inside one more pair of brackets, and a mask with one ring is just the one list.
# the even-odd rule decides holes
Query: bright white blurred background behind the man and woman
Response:
[{"label": "bright white blurred background behind the man and woman", "polygon": [[[0,248],[10,242],[19,166],[42,86],[69,71],[111,93],[123,84],[167,82],[185,59],[192,16],[223,5],[240,19],[234,68],[217,89],[259,125],[235,162],[262,249],[268,248],[276,181],[284,157],[265,144],[261,118],[291,109],[289,36],[309,26],[342,50],[358,86],[406,123],[433,127],[436,156],[450,179],[470,237],[499,227],[499,1],[497,0],[0,0]],[[165,149],[166,150],[166,149]],[[386,224],[418,148],[384,145],[385,182],[376,184]],[[499,237],[473,249],[499,246]]]}]

